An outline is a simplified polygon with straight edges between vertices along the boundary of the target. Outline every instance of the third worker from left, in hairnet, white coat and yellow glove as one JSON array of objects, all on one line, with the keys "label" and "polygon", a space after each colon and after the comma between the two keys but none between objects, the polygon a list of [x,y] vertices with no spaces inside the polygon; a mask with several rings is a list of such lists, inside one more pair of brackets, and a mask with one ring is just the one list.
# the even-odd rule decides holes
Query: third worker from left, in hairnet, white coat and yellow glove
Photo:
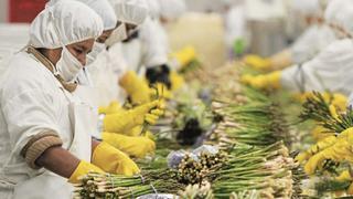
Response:
[{"label": "third worker from left, in hairnet, white coat and yellow glove", "polygon": [[[97,105],[107,106],[111,101],[125,103],[127,96],[132,104],[150,102],[148,84],[129,69],[119,42],[133,36],[148,12],[145,0],[114,0],[110,2],[117,15],[117,28],[105,41],[108,50],[103,51],[95,63],[88,66],[95,86],[100,91]],[[138,54],[138,51],[135,52]],[[133,53],[131,53],[133,54]]]}]

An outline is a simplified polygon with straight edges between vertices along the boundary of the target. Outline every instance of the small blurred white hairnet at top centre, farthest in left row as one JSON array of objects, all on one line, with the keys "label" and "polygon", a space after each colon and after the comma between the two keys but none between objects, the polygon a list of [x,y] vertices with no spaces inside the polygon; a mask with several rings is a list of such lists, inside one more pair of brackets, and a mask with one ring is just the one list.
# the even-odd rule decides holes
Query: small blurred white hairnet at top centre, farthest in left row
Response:
[{"label": "small blurred white hairnet at top centre, farthest in left row", "polygon": [[161,7],[161,17],[168,20],[174,20],[186,11],[184,0],[159,0]]}]

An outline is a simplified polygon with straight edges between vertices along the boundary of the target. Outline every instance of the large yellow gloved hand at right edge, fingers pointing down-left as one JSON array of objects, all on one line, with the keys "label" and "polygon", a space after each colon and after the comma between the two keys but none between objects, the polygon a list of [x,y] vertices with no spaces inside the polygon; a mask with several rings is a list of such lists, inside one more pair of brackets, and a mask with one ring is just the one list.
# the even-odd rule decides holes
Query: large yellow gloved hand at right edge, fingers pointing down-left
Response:
[{"label": "large yellow gloved hand at right edge, fingers pointing down-left", "polygon": [[319,151],[317,155],[312,156],[304,166],[306,172],[308,175],[313,174],[317,167],[325,159],[331,159],[336,163],[341,163],[343,160],[353,163],[353,151],[351,150],[352,144],[353,127],[342,132],[338,136],[334,145],[327,147],[325,149]]}]

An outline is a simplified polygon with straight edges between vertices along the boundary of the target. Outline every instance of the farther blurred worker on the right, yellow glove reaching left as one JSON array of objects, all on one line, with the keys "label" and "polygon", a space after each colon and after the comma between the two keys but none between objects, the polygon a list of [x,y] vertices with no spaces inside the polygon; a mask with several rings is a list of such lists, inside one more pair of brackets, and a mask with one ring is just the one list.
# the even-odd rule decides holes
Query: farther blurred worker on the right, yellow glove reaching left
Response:
[{"label": "farther blurred worker on the right, yellow glove reaching left", "polygon": [[248,55],[245,63],[258,70],[280,70],[291,64],[301,64],[314,57],[322,49],[335,41],[334,33],[323,23],[323,3],[320,0],[292,0],[291,8],[306,20],[307,30],[297,41],[271,57]]}]

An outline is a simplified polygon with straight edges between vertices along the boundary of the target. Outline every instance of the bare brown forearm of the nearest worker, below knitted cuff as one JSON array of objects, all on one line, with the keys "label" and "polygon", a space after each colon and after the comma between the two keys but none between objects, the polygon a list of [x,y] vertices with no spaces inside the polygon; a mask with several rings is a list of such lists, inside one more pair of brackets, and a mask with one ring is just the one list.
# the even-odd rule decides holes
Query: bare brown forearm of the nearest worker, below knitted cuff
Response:
[{"label": "bare brown forearm of the nearest worker, below knitted cuff", "polygon": [[79,164],[79,159],[62,147],[47,148],[36,160],[38,166],[69,178]]}]

